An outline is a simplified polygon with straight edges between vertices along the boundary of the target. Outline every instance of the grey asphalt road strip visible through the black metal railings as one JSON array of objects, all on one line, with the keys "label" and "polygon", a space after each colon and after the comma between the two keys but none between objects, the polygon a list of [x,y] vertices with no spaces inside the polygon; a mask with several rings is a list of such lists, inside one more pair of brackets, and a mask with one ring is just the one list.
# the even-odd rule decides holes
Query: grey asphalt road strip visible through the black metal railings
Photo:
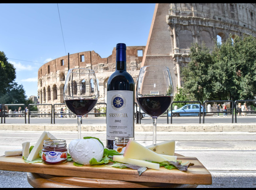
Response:
[{"label": "grey asphalt road strip visible through the black metal railings", "polygon": [[[103,124],[106,123],[106,117],[94,117],[94,118],[83,118],[83,124]],[[4,121],[3,121],[4,122]],[[135,121],[136,122],[136,121]],[[205,123],[231,123],[232,117],[205,117]],[[25,119],[23,118],[5,118],[5,123],[25,123]],[[27,118],[28,123],[28,118]],[[30,123],[51,123],[50,118],[31,118]],[[75,117],[73,118],[56,118],[55,119],[56,124],[76,124],[77,119]],[[145,117],[141,120],[141,124],[151,124],[152,118],[151,117]],[[159,117],[157,119],[157,123],[160,124],[166,124],[167,123],[167,117]],[[170,117],[169,117],[169,123],[170,123]],[[199,123],[199,117],[173,117],[173,124],[196,124]],[[201,123],[203,123],[203,117],[201,118]],[[235,118],[234,118],[235,123]],[[256,116],[247,116],[247,117],[237,117],[237,123],[256,123]]]}]

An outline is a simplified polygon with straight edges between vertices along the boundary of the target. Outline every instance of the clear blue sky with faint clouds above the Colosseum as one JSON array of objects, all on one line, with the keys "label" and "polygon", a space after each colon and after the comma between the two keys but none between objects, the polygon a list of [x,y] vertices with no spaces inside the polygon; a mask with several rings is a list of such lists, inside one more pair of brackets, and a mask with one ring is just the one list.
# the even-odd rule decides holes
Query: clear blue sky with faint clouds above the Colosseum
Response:
[{"label": "clear blue sky with faint clouds above the Colosseum", "polygon": [[58,5],[66,52],[57,4],[0,4],[0,51],[14,64],[16,82],[24,86],[27,96],[37,95],[41,63],[68,52],[92,50],[106,58],[117,43],[146,45],[155,7],[155,4]]}]

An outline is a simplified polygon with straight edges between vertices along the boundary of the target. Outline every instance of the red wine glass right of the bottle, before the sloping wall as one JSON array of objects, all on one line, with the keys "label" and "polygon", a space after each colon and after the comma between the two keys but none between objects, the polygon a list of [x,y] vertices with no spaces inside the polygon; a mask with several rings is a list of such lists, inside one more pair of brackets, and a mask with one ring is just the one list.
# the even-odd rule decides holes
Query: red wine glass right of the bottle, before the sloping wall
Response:
[{"label": "red wine glass right of the bottle, before the sloping wall", "polygon": [[164,114],[173,101],[173,83],[169,68],[141,67],[136,99],[140,108],[153,118],[153,144],[156,144],[157,117]]}]

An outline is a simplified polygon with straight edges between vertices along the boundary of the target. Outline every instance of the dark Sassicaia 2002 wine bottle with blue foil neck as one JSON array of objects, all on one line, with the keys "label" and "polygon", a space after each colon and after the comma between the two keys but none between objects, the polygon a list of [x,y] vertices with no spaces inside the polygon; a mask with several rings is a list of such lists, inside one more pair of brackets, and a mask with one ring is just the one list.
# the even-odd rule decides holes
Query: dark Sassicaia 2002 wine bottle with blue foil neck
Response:
[{"label": "dark Sassicaia 2002 wine bottle with blue foil neck", "polygon": [[115,137],[134,137],[134,80],[126,71],[126,45],[116,45],[115,72],[107,84],[107,148]]}]

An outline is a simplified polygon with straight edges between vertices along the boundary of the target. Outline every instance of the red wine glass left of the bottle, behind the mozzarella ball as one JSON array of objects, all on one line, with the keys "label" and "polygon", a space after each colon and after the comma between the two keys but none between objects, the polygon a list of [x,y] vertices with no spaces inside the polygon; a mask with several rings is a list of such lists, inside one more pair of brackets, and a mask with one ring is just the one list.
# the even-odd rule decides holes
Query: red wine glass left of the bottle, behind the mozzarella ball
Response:
[{"label": "red wine glass left of the bottle, behind the mozzarella ball", "polygon": [[70,69],[64,86],[64,102],[77,116],[78,139],[81,139],[81,120],[98,101],[98,84],[94,70]]}]

